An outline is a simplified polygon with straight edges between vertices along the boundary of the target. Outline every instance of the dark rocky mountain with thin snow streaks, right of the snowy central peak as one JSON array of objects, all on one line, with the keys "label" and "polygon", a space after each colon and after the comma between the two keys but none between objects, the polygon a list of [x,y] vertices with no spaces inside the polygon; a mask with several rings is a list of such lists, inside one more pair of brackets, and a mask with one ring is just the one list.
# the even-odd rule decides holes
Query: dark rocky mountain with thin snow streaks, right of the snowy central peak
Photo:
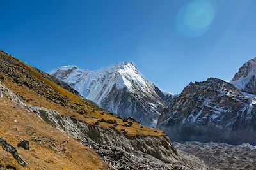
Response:
[{"label": "dark rocky mountain with thin snow streaks, right of the snowy central peak", "polygon": [[163,111],[157,127],[173,141],[256,144],[256,100],[216,78],[190,83]]}]

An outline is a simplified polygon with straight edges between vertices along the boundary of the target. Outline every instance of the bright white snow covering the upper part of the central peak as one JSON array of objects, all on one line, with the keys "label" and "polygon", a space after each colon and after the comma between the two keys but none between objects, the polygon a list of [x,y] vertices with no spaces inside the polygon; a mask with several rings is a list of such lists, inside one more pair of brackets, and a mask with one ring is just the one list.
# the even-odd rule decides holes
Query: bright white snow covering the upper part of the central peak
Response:
[{"label": "bright white snow covering the upper part of the central peak", "polygon": [[[70,73],[65,74],[65,71]],[[76,66],[61,66],[50,74],[65,81],[86,99],[97,104],[100,104],[114,87],[141,94],[141,97],[143,94],[157,96],[151,83],[141,76],[131,62],[117,63],[97,71],[79,69]]]}]

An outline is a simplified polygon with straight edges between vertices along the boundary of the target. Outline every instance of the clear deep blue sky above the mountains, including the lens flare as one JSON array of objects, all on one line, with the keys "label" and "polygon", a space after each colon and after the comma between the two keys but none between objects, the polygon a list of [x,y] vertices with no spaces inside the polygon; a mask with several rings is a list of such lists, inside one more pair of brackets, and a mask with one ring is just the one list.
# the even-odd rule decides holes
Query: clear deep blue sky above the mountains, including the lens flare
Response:
[{"label": "clear deep blue sky above the mountains, including the lens flare", "polygon": [[229,81],[256,57],[256,1],[4,1],[0,49],[51,71],[130,61],[160,89]]}]

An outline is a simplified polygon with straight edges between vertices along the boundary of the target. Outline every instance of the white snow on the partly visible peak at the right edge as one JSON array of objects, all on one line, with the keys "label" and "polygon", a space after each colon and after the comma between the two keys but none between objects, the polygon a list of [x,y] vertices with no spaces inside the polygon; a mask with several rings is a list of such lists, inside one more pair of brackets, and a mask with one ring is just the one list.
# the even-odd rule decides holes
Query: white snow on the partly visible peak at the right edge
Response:
[{"label": "white snow on the partly visible peak at the right edge", "polygon": [[236,73],[230,83],[235,85],[237,89],[242,90],[253,76],[256,76],[256,57],[248,60],[248,62],[239,69],[239,72]]}]

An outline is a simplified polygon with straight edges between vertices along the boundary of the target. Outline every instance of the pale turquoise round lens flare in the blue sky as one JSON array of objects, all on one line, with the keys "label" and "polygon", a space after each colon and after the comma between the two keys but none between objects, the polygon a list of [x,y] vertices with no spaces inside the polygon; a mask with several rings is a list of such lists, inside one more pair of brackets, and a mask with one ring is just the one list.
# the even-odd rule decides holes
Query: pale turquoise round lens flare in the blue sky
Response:
[{"label": "pale turquoise round lens flare in the blue sky", "polygon": [[192,1],[179,10],[176,18],[176,29],[182,36],[201,36],[209,29],[215,15],[216,4],[214,1]]}]

